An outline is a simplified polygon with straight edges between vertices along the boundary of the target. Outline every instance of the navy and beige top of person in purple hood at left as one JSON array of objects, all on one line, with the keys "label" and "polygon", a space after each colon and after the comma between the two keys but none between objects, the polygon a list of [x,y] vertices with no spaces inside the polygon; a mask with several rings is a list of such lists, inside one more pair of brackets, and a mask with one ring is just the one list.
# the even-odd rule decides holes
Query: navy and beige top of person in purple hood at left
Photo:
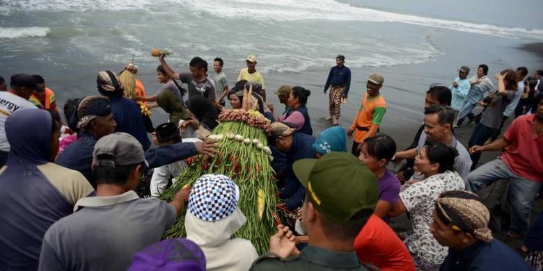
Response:
[{"label": "navy and beige top of person in purple hood at left", "polygon": [[[46,163],[22,172],[8,161],[0,170],[0,269],[33,270],[45,231],[70,215],[93,189],[79,172]],[[36,174],[38,173],[38,174]]]}]

